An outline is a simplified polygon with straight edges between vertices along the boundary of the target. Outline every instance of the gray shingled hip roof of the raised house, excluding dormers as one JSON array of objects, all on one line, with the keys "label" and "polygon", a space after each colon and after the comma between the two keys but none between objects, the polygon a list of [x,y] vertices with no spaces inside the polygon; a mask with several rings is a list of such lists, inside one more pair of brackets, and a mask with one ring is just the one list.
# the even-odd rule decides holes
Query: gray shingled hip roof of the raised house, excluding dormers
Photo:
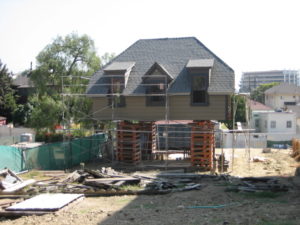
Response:
[{"label": "gray shingled hip roof of the raised house, excluding dormers", "polygon": [[107,93],[108,86],[101,84],[108,82],[107,78],[103,77],[104,70],[113,62],[135,62],[123,91],[124,95],[145,94],[145,86],[141,85],[142,77],[155,62],[163,66],[174,78],[169,88],[170,94],[190,94],[191,79],[187,74],[186,65],[191,59],[214,60],[208,92],[234,92],[234,71],[196,38],[186,37],[138,40],[93,75],[87,94]]}]

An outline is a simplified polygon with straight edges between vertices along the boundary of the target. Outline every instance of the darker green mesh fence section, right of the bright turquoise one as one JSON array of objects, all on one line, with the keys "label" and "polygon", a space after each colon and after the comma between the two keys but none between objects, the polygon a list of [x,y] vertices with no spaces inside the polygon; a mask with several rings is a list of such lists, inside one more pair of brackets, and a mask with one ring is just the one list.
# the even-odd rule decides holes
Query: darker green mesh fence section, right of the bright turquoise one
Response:
[{"label": "darker green mesh fence section, right of the bright turquoise one", "polygon": [[23,152],[25,169],[62,170],[101,157],[105,134],[46,144]]}]

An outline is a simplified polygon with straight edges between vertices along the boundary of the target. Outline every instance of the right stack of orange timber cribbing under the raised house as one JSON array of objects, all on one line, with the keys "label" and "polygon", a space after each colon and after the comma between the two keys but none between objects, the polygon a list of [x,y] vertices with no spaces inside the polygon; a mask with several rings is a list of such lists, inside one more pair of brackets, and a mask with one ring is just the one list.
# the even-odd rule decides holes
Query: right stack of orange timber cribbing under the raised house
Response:
[{"label": "right stack of orange timber cribbing under the raised house", "polygon": [[191,124],[191,164],[210,170],[215,147],[214,124],[199,121]]}]

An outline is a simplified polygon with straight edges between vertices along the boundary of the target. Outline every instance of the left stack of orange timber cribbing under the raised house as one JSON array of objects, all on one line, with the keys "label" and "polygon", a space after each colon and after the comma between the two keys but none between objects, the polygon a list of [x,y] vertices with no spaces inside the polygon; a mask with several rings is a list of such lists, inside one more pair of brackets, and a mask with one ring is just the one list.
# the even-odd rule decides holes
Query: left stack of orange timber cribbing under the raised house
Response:
[{"label": "left stack of orange timber cribbing under the raised house", "polygon": [[117,160],[136,164],[142,159],[149,159],[152,153],[151,129],[151,123],[119,122],[117,129]]}]

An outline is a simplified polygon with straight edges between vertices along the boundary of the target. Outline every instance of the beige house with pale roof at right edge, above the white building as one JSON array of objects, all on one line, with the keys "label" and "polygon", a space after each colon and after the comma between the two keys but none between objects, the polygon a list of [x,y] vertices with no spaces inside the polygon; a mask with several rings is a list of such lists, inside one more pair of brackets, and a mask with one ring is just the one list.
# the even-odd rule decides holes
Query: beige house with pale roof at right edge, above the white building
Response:
[{"label": "beige house with pale roof at right edge, above the white building", "polygon": [[265,104],[273,109],[287,109],[300,103],[300,87],[281,83],[265,91]]}]

